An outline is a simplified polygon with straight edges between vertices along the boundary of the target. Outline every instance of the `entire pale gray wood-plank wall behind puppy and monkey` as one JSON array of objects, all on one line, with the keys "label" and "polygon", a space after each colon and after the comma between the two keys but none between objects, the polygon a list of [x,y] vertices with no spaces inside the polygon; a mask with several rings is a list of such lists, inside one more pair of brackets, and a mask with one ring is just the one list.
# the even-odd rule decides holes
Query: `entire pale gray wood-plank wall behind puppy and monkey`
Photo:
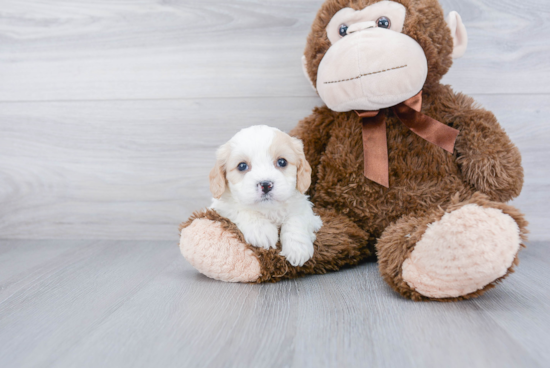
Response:
[{"label": "entire pale gray wood-plank wall behind puppy and monkey", "polygon": [[[0,238],[177,239],[215,148],[320,100],[300,57],[321,0],[0,0]],[[445,82],[523,153],[550,236],[550,2],[443,0],[470,45]]]}]

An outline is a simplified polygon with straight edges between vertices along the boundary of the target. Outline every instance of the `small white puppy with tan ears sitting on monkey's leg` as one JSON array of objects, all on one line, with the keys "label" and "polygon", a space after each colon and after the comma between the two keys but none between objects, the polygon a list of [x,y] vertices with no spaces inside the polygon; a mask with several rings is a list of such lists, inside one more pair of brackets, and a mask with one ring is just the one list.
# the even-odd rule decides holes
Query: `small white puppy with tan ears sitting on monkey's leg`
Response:
[{"label": "small white puppy with tan ears sitting on monkey's leg", "polygon": [[311,167],[302,141],[276,128],[253,126],[235,134],[216,156],[210,208],[233,221],[256,247],[276,248],[281,229],[281,255],[293,266],[306,263],[323,223],[304,194]]}]

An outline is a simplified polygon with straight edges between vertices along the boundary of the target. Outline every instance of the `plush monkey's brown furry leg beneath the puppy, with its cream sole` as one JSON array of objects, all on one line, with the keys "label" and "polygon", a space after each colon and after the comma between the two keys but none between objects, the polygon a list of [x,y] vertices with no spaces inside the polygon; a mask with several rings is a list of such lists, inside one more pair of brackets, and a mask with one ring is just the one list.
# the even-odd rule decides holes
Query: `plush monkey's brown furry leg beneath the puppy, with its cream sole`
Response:
[{"label": "plush monkey's brown furry leg beneath the puppy, with its cream sole", "polygon": [[[373,258],[374,245],[367,243],[368,234],[366,232],[359,229],[345,216],[338,215],[333,211],[318,210],[316,212],[323,220],[323,227],[317,232],[313,257],[301,267],[292,266],[285,257],[280,255],[282,249],[280,242],[277,243],[276,249],[266,250],[254,247],[246,243],[243,234],[234,223],[211,209],[198,211],[181,224],[180,248],[182,248],[184,257],[202,274],[227,282],[240,281],[227,270],[240,269],[246,275],[255,274],[256,265],[246,257],[251,254],[250,252],[257,258],[261,274],[254,280],[247,279],[243,282],[276,282],[309,274],[324,274],[338,271],[344,267],[355,266],[363,260]],[[211,221],[211,225],[215,224],[216,229],[223,229],[223,233],[216,232],[216,236],[211,237],[207,232],[208,223],[203,222],[207,220]],[[193,226],[197,222],[202,222],[206,226],[194,228]],[[234,239],[239,241],[238,245],[232,243]],[[236,249],[236,253],[241,255],[227,257],[228,244],[231,244]],[[205,252],[201,251],[201,248],[205,248],[212,257],[203,256],[202,254]],[[184,249],[186,250],[184,251]],[[216,255],[216,252],[220,255]],[[200,256],[195,258],[200,258],[203,261],[197,262],[194,260],[195,258],[190,260],[186,255],[189,253],[199,253]],[[241,261],[243,258],[246,261]],[[238,266],[235,266],[235,263],[238,263]]]}]

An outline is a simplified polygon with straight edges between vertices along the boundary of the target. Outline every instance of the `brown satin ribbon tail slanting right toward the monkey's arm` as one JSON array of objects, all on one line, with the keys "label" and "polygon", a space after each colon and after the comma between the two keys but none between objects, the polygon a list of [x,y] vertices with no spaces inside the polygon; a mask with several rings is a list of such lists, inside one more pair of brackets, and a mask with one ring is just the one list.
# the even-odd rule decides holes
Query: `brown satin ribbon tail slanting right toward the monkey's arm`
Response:
[{"label": "brown satin ribbon tail slanting right toward the monkey's arm", "polygon": [[415,111],[404,103],[395,106],[393,110],[399,120],[415,134],[445,151],[453,153],[459,134],[457,129]]}]

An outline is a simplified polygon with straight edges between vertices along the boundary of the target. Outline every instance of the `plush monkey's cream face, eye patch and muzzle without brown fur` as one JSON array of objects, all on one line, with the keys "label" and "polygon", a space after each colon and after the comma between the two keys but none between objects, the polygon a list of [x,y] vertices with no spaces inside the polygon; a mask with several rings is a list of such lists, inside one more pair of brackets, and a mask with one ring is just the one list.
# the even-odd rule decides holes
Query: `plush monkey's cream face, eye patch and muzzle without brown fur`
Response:
[{"label": "plush monkey's cream face, eye patch and muzzle without brown fur", "polygon": [[401,33],[404,21],[405,7],[392,1],[334,15],[326,29],[332,45],[317,74],[317,91],[331,110],[379,110],[420,92],[428,61]]}]

